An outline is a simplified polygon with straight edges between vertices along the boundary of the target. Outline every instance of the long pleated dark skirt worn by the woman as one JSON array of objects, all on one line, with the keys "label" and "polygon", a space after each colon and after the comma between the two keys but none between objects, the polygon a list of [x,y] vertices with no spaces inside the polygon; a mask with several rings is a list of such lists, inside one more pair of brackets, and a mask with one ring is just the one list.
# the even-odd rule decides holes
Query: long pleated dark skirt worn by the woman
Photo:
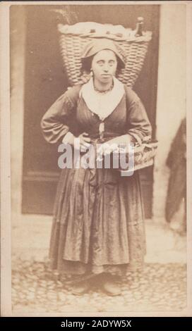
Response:
[{"label": "long pleated dark skirt worn by the woman", "polygon": [[51,268],[60,274],[126,275],[142,268],[145,227],[139,170],[61,170],[50,239]]}]

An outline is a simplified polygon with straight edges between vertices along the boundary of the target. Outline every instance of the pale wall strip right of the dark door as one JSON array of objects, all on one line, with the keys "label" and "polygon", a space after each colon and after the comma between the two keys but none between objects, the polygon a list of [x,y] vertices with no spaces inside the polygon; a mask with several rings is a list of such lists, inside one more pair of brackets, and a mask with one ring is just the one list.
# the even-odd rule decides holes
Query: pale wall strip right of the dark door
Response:
[{"label": "pale wall strip right of the dark door", "polygon": [[169,180],[165,165],[174,135],[186,115],[186,6],[164,4],[160,11],[160,51],[157,82],[157,132],[153,216],[164,218]]}]

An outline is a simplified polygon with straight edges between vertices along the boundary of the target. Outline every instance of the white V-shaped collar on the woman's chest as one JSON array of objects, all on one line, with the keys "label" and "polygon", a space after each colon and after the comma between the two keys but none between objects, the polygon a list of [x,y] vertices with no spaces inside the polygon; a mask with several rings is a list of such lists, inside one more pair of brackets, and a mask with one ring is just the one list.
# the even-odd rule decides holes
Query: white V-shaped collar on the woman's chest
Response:
[{"label": "white V-shaped collar on the woman's chest", "polygon": [[92,77],[79,92],[90,111],[97,114],[100,120],[104,120],[114,111],[125,94],[124,85],[116,77],[113,77],[113,80],[114,87],[106,94],[95,92]]}]

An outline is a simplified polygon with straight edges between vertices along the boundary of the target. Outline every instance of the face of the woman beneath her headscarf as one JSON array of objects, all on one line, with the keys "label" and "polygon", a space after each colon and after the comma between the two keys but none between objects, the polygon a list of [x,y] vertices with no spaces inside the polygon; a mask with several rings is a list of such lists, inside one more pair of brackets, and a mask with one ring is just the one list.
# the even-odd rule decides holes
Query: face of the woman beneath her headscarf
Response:
[{"label": "face of the woman beneath her headscarf", "polygon": [[109,49],[103,49],[95,54],[92,59],[92,71],[95,80],[108,83],[115,75],[117,68],[116,55]]}]

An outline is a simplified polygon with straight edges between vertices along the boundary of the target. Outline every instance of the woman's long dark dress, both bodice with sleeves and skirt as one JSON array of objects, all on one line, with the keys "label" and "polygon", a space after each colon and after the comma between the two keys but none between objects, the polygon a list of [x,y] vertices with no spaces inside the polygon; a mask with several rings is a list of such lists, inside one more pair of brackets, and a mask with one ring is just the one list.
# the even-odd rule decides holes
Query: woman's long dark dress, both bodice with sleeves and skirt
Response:
[{"label": "woman's long dark dress, both bodice with sleeves and skirt", "polygon": [[[82,85],[68,89],[42,118],[47,142],[61,142],[67,132],[88,132],[98,139],[100,118],[83,97]],[[119,104],[104,120],[104,138],[128,134],[133,142],[150,137],[145,108],[124,86]],[[64,168],[54,204],[49,258],[52,268],[71,275],[126,275],[143,266],[145,226],[139,171],[121,177],[115,169]]]}]

